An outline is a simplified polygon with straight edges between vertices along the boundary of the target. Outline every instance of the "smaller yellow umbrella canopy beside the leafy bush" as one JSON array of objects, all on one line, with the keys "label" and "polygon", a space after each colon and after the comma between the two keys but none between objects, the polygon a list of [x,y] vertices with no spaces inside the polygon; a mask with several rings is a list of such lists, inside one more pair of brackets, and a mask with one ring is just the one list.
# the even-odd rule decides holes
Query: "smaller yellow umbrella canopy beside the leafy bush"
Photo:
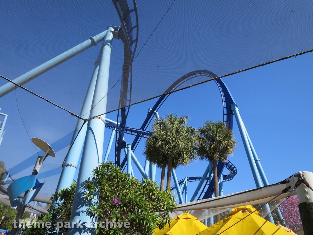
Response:
[{"label": "smaller yellow umbrella canopy beside the leafy bush", "polygon": [[198,232],[208,228],[201,223],[196,217],[185,212],[171,220],[170,226],[164,229],[154,229],[155,235],[196,235]]}]

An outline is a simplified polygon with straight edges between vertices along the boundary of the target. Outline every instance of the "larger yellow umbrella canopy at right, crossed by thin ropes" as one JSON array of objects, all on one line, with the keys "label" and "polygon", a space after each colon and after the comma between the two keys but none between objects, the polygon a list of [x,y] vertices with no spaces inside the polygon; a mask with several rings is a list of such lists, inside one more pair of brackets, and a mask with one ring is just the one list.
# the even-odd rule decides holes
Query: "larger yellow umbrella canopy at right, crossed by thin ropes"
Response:
[{"label": "larger yellow umbrella canopy at right, crossed by thin ropes", "polygon": [[[254,235],[258,229],[259,231],[255,235],[290,235],[289,232],[269,221],[264,224],[266,220],[260,217],[257,211],[254,211],[255,209],[252,206],[233,208],[227,218],[199,232],[198,235]],[[235,224],[236,222],[238,223]]]}]

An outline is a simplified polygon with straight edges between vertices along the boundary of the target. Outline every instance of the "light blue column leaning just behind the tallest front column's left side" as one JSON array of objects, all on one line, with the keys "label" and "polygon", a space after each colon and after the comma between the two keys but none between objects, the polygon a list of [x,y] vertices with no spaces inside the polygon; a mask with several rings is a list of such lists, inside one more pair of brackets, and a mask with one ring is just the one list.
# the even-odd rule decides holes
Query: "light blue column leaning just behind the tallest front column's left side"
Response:
[{"label": "light blue column leaning just behind the tallest front column's left side", "polygon": [[[92,99],[94,96],[95,84],[97,81],[97,76],[98,76],[98,71],[99,71],[99,66],[100,66],[100,59],[101,59],[101,52],[99,53],[98,58],[95,61],[95,68],[93,70],[90,83],[89,83],[89,86],[85,95],[85,99],[80,110],[80,116],[82,118],[90,118],[90,109],[91,109]],[[62,172],[61,172],[55,193],[59,192],[63,188],[69,187],[71,183],[73,182],[74,175],[76,172],[76,167],[78,165],[78,161],[80,158],[81,150],[83,149],[85,136],[87,132],[87,123],[85,123],[84,126],[81,128],[83,123],[84,123],[83,120],[81,119],[77,120],[75,131],[73,133],[73,137],[69,146],[71,146],[72,144],[73,145],[71,149],[69,150],[69,153],[67,154],[67,157],[64,161],[65,165],[63,165]],[[79,130],[80,130],[80,133],[77,136],[77,133],[79,132]],[[77,138],[74,142],[74,139],[76,136]]]}]

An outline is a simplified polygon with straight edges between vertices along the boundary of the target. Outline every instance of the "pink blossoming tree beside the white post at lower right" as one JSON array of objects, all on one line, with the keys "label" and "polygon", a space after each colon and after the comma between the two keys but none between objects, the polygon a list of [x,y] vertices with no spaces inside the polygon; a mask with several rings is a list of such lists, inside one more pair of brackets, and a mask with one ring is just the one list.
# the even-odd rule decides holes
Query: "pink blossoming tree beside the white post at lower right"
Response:
[{"label": "pink blossoming tree beside the white post at lower right", "polygon": [[284,217],[286,227],[292,231],[299,231],[302,229],[302,222],[299,212],[299,201],[295,196],[289,197],[281,206],[280,212]]}]

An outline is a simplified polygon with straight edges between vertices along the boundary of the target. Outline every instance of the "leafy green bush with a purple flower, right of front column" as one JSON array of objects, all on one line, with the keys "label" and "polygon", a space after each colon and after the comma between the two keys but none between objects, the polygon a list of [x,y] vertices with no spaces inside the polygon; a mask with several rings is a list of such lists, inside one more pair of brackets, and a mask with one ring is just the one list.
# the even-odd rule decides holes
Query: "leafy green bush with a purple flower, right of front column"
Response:
[{"label": "leafy green bush with a purple flower, right of front column", "polygon": [[[123,173],[112,161],[99,165],[93,171],[93,179],[85,184],[86,199],[93,201],[88,215],[105,225],[108,221],[129,222],[130,226],[98,226],[97,234],[153,234],[153,229],[163,228],[176,204],[170,191],[162,192],[158,188],[152,180],[141,183]],[[163,213],[156,213],[161,210]]]}]

